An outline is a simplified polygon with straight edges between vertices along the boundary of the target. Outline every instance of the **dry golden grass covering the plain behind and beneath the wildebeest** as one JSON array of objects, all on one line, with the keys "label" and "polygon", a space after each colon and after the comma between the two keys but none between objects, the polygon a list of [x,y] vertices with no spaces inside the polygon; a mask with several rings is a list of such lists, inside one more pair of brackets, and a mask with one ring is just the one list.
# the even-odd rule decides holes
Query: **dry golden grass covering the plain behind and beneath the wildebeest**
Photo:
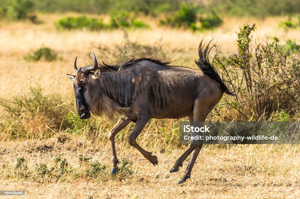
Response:
[{"label": "dry golden grass covering the plain behind and beneath the wildebeest", "polygon": [[[70,13],[67,15],[76,16]],[[64,15],[65,16],[65,15]],[[123,40],[122,30],[113,31],[57,31],[54,22],[63,17],[58,14],[39,14],[43,23],[0,21],[1,98],[10,98],[25,92],[30,85],[40,84],[46,93],[57,93],[73,101],[72,83],[66,73],[74,74],[73,61],[78,56],[78,66],[92,63],[91,51],[98,60],[114,63],[109,54],[97,51],[98,46],[115,48]],[[107,20],[107,16],[104,16]],[[189,30],[158,27],[155,20],[143,17],[152,29],[132,29],[129,40],[148,46],[161,46],[175,65],[195,67],[199,41],[206,36],[218,37],[223,44],[221,53],[235,52],[235,31],[243,23],[256,23],[254,37],[265,39],[276,36],[280,41],[299,41],[298,30],[278,28],[285,17],[256,19],[225,18],[224,24],[214,30],[191,32]],[[49,47],[58,53],[52,62],[27,61],[23,57],[40,47]],[[107,56],[107,57],[106,57]],[[160,55],[157,55],[160,56]],[[213,118],[214,116],[210,116]],[[101,120],[104,121],[104,120]],[[88,164],[80,165],[80,155],[92,157],[110,167],[107,130],[112,123],[103,122],[92,135],[80,130],[73,135],[60,131],[49,139],[13,140],[1,135],[0,144],[0,190],[26,190],[26,198],[297,198],[300,196],[299,146],[295,145],[231,145],[205,146],[196,161],[192,177],[177,185],[184,168],[169,173],[176,159],[186,146],[174,136],[177,121],[153,120],[140,135],[138,143],[154,152],[159,165],[154,167],[126,142],[132,125],[120,133],[117,139],[119,160],[132,161],[133,174],[122,178],[110,177],[107,173],[87,177]],[[45,124],[46,125],[46,124]],[[165,129],[162,129],[162,126]],[[85,127],[82,127],[85,128]],[[164,132],[162,132],[164,131]],[[37,133],[38,134],[38,133]],[[166,142],[165,135],[170,135]],[[164,135],[164,136],[161,136]],[[5,139],[3,139],[5,137]],[[165,153],[160,154],[164,148]],[[53,166],[55,158],[66,158],[69,170],[61,177],[57,174],[43,176],[35,170],[35,164]],[[28,177],[16,173],[16,158],[24,157]],[[188,160],[184,162],[184,167]],[[19,197],[10,197],[19,198]]]}]

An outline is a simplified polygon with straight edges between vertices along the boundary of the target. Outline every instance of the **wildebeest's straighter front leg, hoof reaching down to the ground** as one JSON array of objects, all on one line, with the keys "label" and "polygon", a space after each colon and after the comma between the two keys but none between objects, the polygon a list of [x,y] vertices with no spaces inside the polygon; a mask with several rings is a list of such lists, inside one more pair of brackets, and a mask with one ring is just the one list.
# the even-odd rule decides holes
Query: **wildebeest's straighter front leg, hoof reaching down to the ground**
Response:
[{"label": "wildebeest's straighter front leg, hoof reaching down to the ground", "polygon": [[117,124],[108,133],[108,139],[110,141],[110,155],[112,160],[112,170],[110,174],[112,175],[115,174],[116,171],[118,170],[117,163],[119,163],[119,160],[117,159],[116,148],[115,148],[115,136],[123,128],[125,128],[130,122],[131,122],[130,119],[128,119],[125,116],[122,116],[117,122]]}]

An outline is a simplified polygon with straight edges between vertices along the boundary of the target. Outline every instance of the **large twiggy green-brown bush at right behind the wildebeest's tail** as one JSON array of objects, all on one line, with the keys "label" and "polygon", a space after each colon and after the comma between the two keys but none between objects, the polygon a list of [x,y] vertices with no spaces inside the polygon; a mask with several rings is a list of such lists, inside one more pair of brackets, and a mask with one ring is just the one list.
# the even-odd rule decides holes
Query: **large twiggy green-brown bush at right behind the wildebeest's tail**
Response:
[{"label": "large twiggy green-brown bush at right behind the wildebeest's tail", "polygon": [[275,42],[253,44],[255,29],[254,25],[240,28],[238,54],[223,59],[229,70],[220,57],[215,59],[226,79],[237,89],[238,98],[234,102],[225,101],[237,110],[235,116],[239,120],[263,120],[278,108],[293,110],[300,104],[300,54],[287,53]]}]

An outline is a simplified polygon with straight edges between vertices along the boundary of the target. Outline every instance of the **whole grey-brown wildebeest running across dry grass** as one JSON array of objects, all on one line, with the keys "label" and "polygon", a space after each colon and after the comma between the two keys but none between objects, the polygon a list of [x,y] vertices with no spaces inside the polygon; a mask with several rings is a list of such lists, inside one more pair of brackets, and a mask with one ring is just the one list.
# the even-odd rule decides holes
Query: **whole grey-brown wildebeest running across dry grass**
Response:
[{"label": "whole grey-brown wildebeest running across dry grass", "polygon": [[[80,119],[105,114],[112,119],[121,116],[108,134],[112,161],[111,174],[115,174],[119,160],[116,156],[115,136],[131,121],[136,125],[128,142],[137,148],[153,165],[156,156],[137,144],[136,138],[146,123],[152,119],[179,119],[188,117],[190,122],[205,121],[208,113],[220,101],[223,93],[235,95],[221,80],[208,54],[213,47],[199,45],[199,59],[196,64],[201,70],[183,66],[169,66],[153,58],[133,58],[123,64],[98,64],[95,54],[94,66],[74,69],[76,76],[68,75],[73,81],[76,107]],[[202,148],[202,144],[190,144],[187,151],[177,159],[170,172],[176,172],[187,156],[192,153],[183,177],[178,183],[190,178],[191,170]]]}]

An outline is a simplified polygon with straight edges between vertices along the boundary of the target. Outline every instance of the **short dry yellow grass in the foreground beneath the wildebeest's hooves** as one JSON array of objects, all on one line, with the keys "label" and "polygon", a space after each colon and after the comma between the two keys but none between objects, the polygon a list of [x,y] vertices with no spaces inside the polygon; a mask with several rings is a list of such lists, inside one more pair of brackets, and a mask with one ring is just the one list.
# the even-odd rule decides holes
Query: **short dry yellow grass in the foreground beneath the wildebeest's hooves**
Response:
[{"label": "short dry yellow grass in the foreground beneath the wildebeest's hooves", "polygon": [[[103,140],[87,139],[84,135],[68,135],[65,143],[58,137],[39,142],[7,142],[1,148],[0,165],[7,166],[3,169],[0,189],[26,190],[28,198],[295,198],[300,195],[298,146],[207,145],[196,161],[191,179],[177,185],[184,169],[172,174],[168,171],[186,147],[176,150],[165,147],[170,152],[160,154],[162,146],[146,147],[149,137],[142,138],[139,143],[158,157],[159,165],[154,167],[126,142],[117,141],[119,159],[133,161],[134,173],[122,179],[109,174],[88,179],[82,174],[85,168],[79,165],[79,155],[110,165],[109,146]],[[67,175],[57,180],[35,174],[36,163],[53,165],[58,154],[72,168]],[[8,177],[15,171],[11,167],[16,165],[17,157],[25,157],[34,177]],[[188,160],[184,166],[187,163]]]}]

